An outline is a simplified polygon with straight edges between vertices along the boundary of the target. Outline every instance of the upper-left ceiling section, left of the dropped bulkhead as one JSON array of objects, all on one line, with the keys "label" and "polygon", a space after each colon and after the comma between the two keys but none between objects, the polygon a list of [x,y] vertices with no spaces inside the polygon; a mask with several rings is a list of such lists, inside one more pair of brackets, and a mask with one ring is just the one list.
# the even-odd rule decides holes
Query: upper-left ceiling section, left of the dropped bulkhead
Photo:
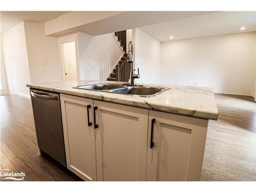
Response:
[{"label": "upper-left ceiling section, left of the dropped bulkhead", "polygon": [[1,33],[20,22],[47,22],[69,11],[1,11]]}]

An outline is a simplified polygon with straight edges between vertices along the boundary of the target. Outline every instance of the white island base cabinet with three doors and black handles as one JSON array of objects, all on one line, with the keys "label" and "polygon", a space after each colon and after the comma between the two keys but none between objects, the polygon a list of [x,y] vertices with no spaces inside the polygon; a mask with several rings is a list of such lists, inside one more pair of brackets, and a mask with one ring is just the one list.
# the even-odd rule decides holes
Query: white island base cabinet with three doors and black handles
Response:
[{"label": "white island base cabinet with three doors and black handles", "polygon": [[200,181],[208,120],[60,94],[67,167],[86,181]]}]

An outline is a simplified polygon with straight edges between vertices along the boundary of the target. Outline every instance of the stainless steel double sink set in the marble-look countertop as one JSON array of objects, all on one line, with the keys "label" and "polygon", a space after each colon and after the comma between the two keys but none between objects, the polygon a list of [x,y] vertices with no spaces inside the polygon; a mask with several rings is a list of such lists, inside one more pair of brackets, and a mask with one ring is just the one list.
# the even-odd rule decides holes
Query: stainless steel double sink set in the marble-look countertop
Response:
[{"label": "stainless steel double sink set in the marble-look countertop", "polygon": [[135,95],[140,97],[153,97],[160,94],[170,88],[167,87],[152,87],[135,85],[130,86],[129,84],[118,84],[118,83],[100,83],[100,84],[90,84],[85,86],[74,87],[77,89],[93,90],[93,91],[103,91],[124,95]]}]

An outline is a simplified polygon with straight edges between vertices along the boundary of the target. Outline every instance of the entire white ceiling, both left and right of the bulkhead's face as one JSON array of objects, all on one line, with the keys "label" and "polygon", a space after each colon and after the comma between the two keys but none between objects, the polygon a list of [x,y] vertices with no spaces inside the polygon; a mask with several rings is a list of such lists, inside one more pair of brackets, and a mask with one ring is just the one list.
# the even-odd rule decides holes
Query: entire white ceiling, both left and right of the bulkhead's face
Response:
[{"label": "entire white ceiling, both left and right of the bulkhead's face", "polygon": [[[22,21],[47,22],[68,12],[2,11],[1,33]],[[256,31],[256,12],[128,11],[73,30],[99,35],[136,27],[160,41],[253,32]],[[245,27],[245,30],[241,31],[241,27]],[[174,38],[170,39],[170,36]]]}]

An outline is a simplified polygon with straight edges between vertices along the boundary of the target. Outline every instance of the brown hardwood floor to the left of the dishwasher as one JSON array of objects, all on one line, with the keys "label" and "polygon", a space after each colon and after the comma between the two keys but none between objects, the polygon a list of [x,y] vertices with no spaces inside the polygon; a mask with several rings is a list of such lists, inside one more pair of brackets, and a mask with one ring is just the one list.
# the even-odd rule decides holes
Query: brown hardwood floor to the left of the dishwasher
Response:
[{"label": "brown hardwood floor to the left of the dishwasher", "polygon": [[[32,104],[18,95],[1,96],[1,169],[25,172],[25,181],[74,181],[37,148]],[[3,180],[2,180],[3,181]]]}]

